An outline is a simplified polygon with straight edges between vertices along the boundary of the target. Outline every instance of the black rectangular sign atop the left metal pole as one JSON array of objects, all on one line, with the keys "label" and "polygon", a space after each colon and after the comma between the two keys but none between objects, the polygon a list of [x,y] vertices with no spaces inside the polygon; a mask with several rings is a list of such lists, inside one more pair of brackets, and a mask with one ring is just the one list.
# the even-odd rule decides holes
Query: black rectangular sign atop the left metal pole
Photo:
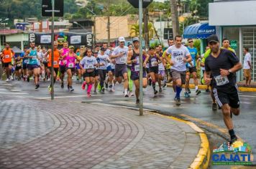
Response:
[{"label": "black rectangular sign atop the left metal pole", "polygon": [[[64,0],[54,0],[54,16],[63,16]],[[52,16],[52,0],[42,0],[42,16]]]}]

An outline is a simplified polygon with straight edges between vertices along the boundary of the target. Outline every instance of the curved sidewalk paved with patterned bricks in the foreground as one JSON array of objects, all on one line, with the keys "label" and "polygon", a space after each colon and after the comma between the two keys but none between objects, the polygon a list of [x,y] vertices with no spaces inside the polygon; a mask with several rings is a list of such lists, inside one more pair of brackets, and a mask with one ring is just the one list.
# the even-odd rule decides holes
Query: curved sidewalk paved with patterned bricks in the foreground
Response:
[{"label": "curved sidewalk paved with patterned bricks in the foreground", "polygon": [[135,110],[0,96],[0,168],[188,168],[189,125]]}]

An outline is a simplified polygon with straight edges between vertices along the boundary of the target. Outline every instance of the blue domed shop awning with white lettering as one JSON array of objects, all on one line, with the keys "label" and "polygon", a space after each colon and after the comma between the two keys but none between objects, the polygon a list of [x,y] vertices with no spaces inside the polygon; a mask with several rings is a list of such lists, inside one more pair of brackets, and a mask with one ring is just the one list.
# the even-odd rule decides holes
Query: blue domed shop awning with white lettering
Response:
[{"label": "blue domed shop awning with white lettering", "polygon": [[183,38],[206,39],[207,37],[211,36],[211,34],[216,34],[215,26],[209,26],[208,23],[199,23],[187,26],[183,33]]}]

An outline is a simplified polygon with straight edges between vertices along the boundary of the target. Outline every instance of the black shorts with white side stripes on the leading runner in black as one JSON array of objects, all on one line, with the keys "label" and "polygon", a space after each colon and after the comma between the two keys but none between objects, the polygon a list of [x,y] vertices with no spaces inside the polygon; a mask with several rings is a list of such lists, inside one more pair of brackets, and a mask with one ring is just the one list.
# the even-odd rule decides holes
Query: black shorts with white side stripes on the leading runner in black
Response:
[{"label": "black shorts with white side stripes on the leading runner in black", "polygon": [[225,104],[229,104],[229,106],[232,108],[239,107],[239,95],[237,84],[235,84],[234,87],[227,87],[227,90],[218,90],[214,87],[213,92],[219,107],[222,107]]}]

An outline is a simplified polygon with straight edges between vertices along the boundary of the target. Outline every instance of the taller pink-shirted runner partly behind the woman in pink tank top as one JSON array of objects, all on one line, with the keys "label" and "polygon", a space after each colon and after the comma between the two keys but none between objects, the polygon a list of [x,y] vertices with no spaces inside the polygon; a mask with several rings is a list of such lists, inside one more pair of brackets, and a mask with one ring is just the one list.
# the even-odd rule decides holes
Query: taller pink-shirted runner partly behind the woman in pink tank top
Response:
[{"label": "taller pink-shirted runner partly behind the woman in pink tank top", "polygon": [[64,88],[64,77],[65,77],[65,69],[66,69],[66,63],[67,63],[67,60],[66,59],[63,59],[63,56],[65,54],[68,54],[69,52],[69,49],[68,49],[68,42],[63,42],[63,49],[60,49],[60,54],[62,57],[60,57],[60,80],[61,80],[61,85],[60,87],[61,88]]}]

